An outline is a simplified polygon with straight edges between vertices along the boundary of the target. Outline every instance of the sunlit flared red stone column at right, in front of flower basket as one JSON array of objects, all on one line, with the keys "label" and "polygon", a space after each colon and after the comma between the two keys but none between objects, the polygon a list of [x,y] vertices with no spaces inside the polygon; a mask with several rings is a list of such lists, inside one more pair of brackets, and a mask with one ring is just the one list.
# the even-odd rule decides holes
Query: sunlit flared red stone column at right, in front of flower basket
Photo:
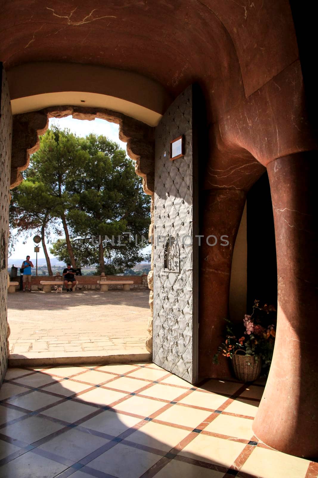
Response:
[{"label": "sunlit flared red stone column at right, in front of flower basket", "polygon": [[318,457],[317,156],[301,152],[267,167],[277,249],[277,335],[253,424],[267,445],[311,459]]}]

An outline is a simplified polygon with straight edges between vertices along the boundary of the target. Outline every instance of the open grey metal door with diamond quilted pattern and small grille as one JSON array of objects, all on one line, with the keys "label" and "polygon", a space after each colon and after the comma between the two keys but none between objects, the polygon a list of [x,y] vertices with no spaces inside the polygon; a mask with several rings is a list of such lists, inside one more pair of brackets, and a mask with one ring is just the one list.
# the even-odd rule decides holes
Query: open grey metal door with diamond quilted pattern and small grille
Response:
[{"label": "open grey metal door with diamond quilted pattern and small grille", "polygon": [[[190,383],[197,381],[198,374],[197,154],[193,96],[194,88],[188,87],[156,128],[154,179],[153,360]],[[170,141],[181,135],[185,154],[171,161]],[[174,264],[171,272],[167,269],[169,263]]]}]

